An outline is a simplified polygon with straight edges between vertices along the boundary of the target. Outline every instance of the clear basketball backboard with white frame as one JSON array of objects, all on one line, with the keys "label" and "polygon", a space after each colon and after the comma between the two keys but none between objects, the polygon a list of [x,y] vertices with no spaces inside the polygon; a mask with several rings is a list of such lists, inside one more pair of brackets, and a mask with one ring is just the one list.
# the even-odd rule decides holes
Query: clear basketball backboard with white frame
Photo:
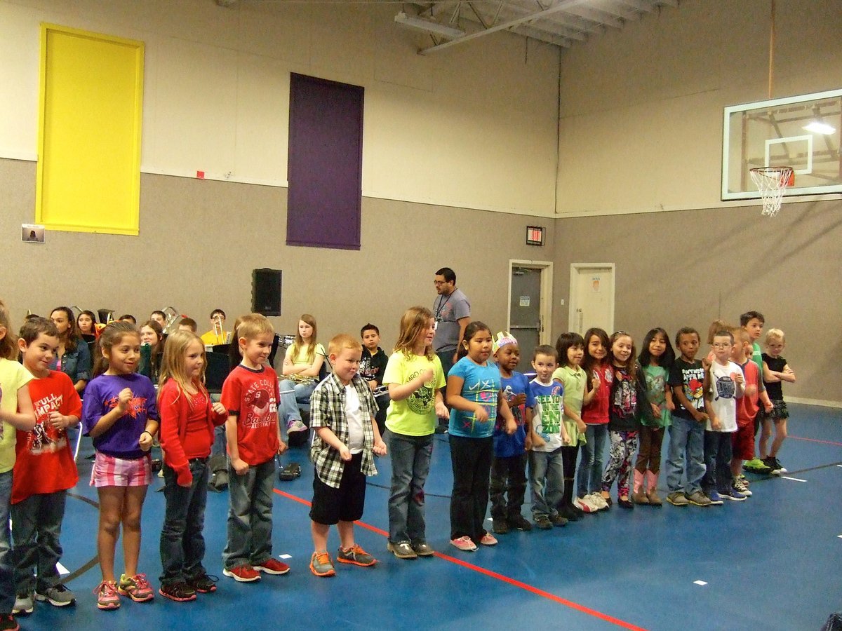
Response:
[{"label": "clear basketball backboard with white frame", "polygon": [[792,167],[785,195],[842,193],[842,89],[725,108],[722,199],[759,199],[749,169]]}]

